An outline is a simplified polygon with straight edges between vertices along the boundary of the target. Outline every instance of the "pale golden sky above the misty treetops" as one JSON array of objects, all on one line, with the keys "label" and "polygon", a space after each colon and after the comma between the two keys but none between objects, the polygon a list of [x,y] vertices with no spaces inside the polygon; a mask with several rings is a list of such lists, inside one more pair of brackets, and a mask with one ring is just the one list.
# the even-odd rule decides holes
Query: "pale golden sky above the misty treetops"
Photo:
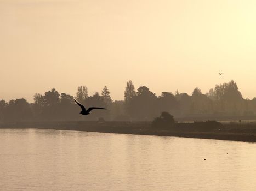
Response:
[{"label": "pale golden sky above the misty treetops", "polygon": [[[0,99],[106,85],[256,97],[256,1],[0,0]],[[219,75],[218,73],[223,73]]]}]

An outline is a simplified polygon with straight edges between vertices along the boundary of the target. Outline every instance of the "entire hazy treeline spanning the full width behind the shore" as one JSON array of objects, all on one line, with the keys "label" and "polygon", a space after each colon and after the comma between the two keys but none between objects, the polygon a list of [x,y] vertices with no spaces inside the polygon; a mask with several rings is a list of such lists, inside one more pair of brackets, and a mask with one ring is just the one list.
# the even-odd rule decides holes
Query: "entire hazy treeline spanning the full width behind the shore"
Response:
[{"label": "entire hazy treeline spanning the full width behind the shore", "polygon": [[101,93],[89,96],[86,86],[79,86],[75,98],[85,106],[99,106],[107,110],[93,110],[93,115],[79,115],[81,110],[73,101],[73,96],[59,93],[56,89],[36,93],[34,102],[28,103],[20,98],[0,100],[0,122],[16,121],[62,121],[62,120],[105,120],[113,121],[152,121],[162,111],[177,117],[221,117],[221,116],[254,116],[256,114],[256,98],[244,99],[236,83],[231,80],[211,88],[203,94],[195,88],[191,95],[179,93],[178,90],[162,92],[156,96],[146,86],[137,90],[132,81],[128,81],[124,89],[124,100],[113,101],[110,91],[105,86]]}]

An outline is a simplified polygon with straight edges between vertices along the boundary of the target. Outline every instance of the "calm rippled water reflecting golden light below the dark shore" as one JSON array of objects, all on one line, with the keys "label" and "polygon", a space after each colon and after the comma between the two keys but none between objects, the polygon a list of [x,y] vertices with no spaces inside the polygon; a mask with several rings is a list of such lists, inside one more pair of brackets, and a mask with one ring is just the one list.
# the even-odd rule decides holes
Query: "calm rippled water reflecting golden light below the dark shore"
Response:
[{"label": "calm rippled water reflecting golden light below the dark shore", "polygon": [[255,159],[246,142],[0,129],[0,190],[256,190]]}]

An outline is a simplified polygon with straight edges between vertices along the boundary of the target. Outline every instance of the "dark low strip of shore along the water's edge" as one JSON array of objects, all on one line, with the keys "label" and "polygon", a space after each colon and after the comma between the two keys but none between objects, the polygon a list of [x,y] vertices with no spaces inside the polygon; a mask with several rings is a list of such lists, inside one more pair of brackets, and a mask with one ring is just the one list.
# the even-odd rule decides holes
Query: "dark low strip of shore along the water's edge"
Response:
[{"label": "dark low strip of shore along the water's edge", "polygon": [[[178,123],[179,124],[179,123]],[[224,123],[221,129],[190,128],[191,123],[181,123],[182,128],[157,129],[151,122],[96,122],[96,121],[52,121],[17,122],[0,124],[0,128],[37,128],[56,130],[76,130],[99,133],[119,133],[134,135],[177,136],[184,138],[232,140],[256,142],[256,123]],[[177,125],[179,126],[179,125]],[[184,128],[185,127],[185,128]]]}]

